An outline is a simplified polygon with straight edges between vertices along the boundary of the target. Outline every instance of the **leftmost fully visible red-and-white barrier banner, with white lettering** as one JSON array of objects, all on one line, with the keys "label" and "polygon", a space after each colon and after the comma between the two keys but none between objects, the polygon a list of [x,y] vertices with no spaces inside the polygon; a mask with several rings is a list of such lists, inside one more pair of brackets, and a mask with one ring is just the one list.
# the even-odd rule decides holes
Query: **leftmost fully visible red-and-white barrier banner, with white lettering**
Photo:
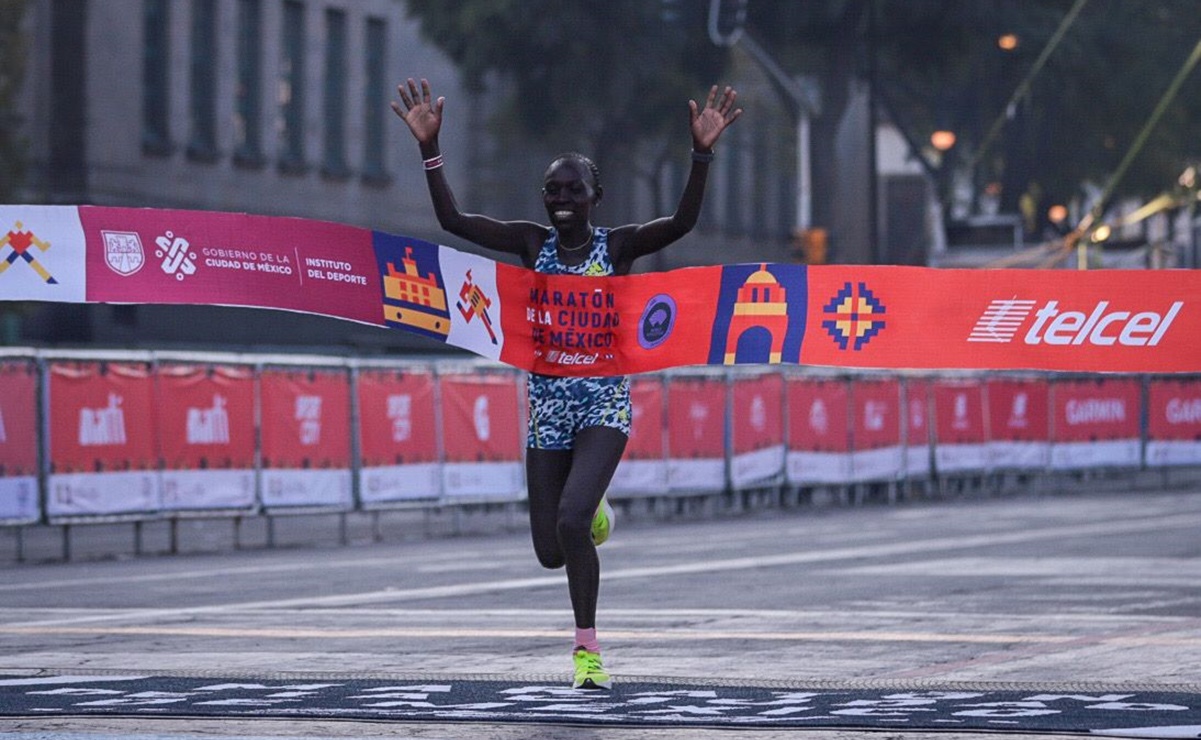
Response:
[{"label": "leftmost fully visible red-and-white barrier banner, with white lettering", "polygon": [[159,429],[149,366],[53,362],[48,372],[46,513],[159,511]]}]

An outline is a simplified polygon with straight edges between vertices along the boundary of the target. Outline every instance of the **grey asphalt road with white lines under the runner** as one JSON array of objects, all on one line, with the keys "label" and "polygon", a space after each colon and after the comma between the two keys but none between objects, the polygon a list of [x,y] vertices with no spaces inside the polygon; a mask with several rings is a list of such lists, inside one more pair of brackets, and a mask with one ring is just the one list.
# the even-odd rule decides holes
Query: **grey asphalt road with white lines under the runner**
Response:
[{"label": "grey asphalt road with white lines under the runner", "polygon": [[[619,521],[600,550],[598,628],[617,680],[1195,686],[1199,535],[1201,491]],[[570,627],[563,574],[537,566],[525,532],[0,568],[4,673],[537,674],[566,682]],[[5,740],[709,734],[560,730],[0,721]]]}]

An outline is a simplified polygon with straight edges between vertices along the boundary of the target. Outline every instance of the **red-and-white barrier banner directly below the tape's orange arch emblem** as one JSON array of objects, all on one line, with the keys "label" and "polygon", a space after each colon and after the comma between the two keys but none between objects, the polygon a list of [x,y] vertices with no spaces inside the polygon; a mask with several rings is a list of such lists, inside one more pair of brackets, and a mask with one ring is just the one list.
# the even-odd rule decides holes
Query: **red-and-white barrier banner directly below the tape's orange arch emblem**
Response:
[{"label": "red-and-white barrier banner directly below the tape's orange arch emblem", "polygon": [[731,386],[730,484],[773,482],[784,472],[784,377],[739,375]]}]

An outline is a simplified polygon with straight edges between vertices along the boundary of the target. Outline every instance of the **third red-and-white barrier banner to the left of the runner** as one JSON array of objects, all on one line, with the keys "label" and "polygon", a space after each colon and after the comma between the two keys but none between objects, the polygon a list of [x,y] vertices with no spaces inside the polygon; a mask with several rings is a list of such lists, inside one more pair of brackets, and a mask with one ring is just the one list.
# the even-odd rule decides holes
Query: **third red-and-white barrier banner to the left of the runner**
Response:
[{"label": "third red-and-white barrier banner to the left of the runner", "polygon": [[259,374],[259,398],[263,506],[349,506],[346,370],[268,368]]}]

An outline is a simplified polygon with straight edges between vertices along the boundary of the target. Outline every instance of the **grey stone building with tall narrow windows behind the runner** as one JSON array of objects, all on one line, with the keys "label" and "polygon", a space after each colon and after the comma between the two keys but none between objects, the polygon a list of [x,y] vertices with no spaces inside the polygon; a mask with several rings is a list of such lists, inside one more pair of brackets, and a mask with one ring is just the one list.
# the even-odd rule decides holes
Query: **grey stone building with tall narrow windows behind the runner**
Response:
[{"label": "grey stone building with tall narrow windows behind the runner", "polygon": [[[498,147],[486,130],[495,100],[462,88],[404,0],[29,0],[24,32],[24,201],[300,216],[473,250],[438,229],[417,147],[388,107],[400,78],[422,76],[447,97],[442,149],[462,207],[545,217],[537,183],[562,148]],[[753,115],[722,142],[699,228],[639,269],[794,258],[793,124],[754,65],[736,53],[734,65]],[[607,198],[607,223],[669,213],[687,137],[681,127],[680,156],[659,172],[605,173],[607,191],[625,196]],[[20,340],[437,348],[334,320],[204,306],[38,306]]]}]

